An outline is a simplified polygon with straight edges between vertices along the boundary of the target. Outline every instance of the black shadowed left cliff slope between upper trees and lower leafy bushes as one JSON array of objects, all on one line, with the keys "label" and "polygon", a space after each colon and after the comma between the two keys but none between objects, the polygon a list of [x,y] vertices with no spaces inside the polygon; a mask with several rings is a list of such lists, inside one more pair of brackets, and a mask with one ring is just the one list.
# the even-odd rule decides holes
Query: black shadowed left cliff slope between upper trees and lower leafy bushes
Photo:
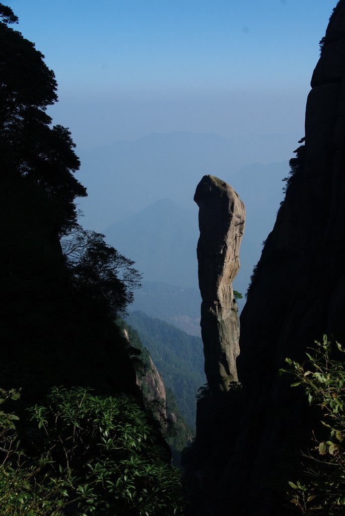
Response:
[{"label": "black shadowed left cliff slope between upper trees and lower leafy bushes", "polygon": [[21,177],[2,180],[0,197],[2,388],[28,402],[62,384],[141,399],[120,331],[71,288],[54,202]]}]

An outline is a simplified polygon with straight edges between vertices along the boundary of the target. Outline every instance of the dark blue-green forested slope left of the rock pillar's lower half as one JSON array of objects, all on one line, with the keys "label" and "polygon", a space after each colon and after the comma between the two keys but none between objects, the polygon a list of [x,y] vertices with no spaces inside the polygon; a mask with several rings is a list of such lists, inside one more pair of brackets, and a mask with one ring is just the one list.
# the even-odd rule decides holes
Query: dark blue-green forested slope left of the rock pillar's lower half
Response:
[{"label": "dark blue-green forested slope left of the rock pillar's lower half", "polygon": [[132,312],[126,318],[135,328],[165,385],[173,391],[187,423],[195,429],[195,395],[206,382],[203,343],[165,321]]}]

